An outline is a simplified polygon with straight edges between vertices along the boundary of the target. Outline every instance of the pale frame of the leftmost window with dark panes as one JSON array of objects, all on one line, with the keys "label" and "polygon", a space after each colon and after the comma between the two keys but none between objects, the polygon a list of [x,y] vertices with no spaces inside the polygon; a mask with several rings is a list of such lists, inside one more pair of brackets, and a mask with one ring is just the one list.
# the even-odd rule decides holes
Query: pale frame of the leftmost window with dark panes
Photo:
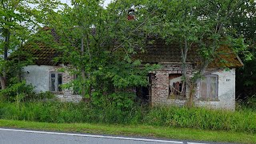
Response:
[{"label": "pale frame of the leftmost window with dark panes", "polygon": [[[52,90],[52,85],[51,85],[51,80],[52,78],[52,74],[55,74],[55,78],[54,78],[54,91]],[[62,82],[58,82],[58,75],[61,74],[61,78],[62,78]],[[62,89],[59,89],[59,86],[61,86],[63,84],[63,73],[62,72],[56,72],[56,71],[51,71],[49,74],[49,91],[52,93],[62,93]]]}]

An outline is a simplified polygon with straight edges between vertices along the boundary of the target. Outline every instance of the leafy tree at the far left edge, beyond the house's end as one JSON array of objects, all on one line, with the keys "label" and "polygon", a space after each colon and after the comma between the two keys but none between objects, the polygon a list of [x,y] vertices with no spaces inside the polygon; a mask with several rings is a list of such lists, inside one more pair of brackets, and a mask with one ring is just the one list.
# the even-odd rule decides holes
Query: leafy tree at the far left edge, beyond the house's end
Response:
[{"label": "leafy tree at the far left edge, beyond the house's end", "polygon": [[0,82],[6,89],[7,73],[10,72],[8,54],[21,47],[33,29],[33,11],[29,0],[1,0],[0,5]]}]

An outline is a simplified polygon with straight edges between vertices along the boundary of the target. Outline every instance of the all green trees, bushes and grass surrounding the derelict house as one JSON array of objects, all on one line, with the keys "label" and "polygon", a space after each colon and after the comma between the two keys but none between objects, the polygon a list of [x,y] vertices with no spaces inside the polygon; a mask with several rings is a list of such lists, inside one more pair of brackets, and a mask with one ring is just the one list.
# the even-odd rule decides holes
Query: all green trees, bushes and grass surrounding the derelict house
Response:
[{"label": "all green trees, bushes and grass surrounding the derelict house", "polygon": [[[198,50],[198,55],[204,60],[202,70],[195,75],[198,77],[194,83],[218,55],[223,39],[228,41],[226,45],[238,48],[234,49],[236,53],[243,51],[245,54],[242,55],[250,55],[245,51],[249,46],[254,54],[255,2],[127,0],[111,2],[105,9],[101,6],[102,1],[95,0],[91,3],[74,0],[73,7],[58,1],[40,0],[37,1],[38,10],[27,6],[27,2],[30,1],[3,0],[0,6],[0,12],[4,14],[0,20],[0,54],[3,55],[0,57],[0,118],[58,123],[146,124],[255,134],[254,94],[250,94],[237,111],[231,112],[195,107],[140,106],[133,94],[124,93],[131,86],[146,86],[146,74],[156,67],[145,65],[142,69],[142,62],[133,58],[138,51],[143,51],[150,34],[166,42],[179,42],[183,74],[186,74],[187,51],[193,49],[194,44],[202,48]],[[62,10],[54,10],[59,5]],[[127,11],[133,8],[136,9],[136,20],[127,21]],[[33,34],[38,24],[56,30],[58,44],[48,41],[47,38],[52,36]],[[250,29],[243,33],[244,26],[250,26]],[[24,63],[18,57],[11,60],[8,52],[22,49],[24,43],[33,39],[31,35],[36,37],[35,42],[44,39],[62,51],[63,57],[57,61],[69,63],[70,74],[77,76],[74,82],[63,88],[77,86],[78,93],[90,98],[90,102],[45,101],[53,95],[36,94],[32,86],[26,86],[21,71],[30,59]],[[239,77],[241,87],[254,87],[255,81],[246,79],[254,80],[254,63],[246,62],[248,67],[238,73],[243,75]],[[193,94],[191,102],[192,98]]]}]

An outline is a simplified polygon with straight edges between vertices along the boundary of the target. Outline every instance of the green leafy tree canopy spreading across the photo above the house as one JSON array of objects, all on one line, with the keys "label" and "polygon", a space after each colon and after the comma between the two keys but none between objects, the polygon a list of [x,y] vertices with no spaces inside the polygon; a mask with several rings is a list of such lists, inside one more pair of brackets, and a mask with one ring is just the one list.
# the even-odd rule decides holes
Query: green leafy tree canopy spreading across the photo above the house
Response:
[{"label": "green leafy tree canopy spreading across the photo above the house", "polygon": [[[179,44],[183,79],[191,91],[220,53],[220,46],[229,46],[244,60],[251,56],[247,46],[254,54],[254,1],[115,0],[106,8],[100,0],[71,0],[71,6],[58,0],[1,2],[2,89],[8,50],[22,46],[37,26],[56,31],[58,45],[54,47],[62,52],[58,61],[68,64],[66,70],[78,78],[66,86],[77,86],[86,98],[147,85],[147,73],[154,66],[142,64],[133,55],[146,50],[149,34]],[[29,3],[35,4],[34,10]],[[134,15],[128,20],[130,12]],[[193,78],[186,75],[189,50],[202,59]]]}]

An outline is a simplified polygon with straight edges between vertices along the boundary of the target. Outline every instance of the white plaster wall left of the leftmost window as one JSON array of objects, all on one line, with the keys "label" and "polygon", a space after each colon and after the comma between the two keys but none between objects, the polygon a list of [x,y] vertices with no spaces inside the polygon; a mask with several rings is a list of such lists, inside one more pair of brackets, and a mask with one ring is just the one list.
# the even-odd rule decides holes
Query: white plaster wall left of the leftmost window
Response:
[{"label": "white plaster wall left of the leftmost window", "polygon": [[49,74],[54,66],[25,66],[23,67],[23,78],[27,84],[34,87],[35,92],[49,91]]}]

